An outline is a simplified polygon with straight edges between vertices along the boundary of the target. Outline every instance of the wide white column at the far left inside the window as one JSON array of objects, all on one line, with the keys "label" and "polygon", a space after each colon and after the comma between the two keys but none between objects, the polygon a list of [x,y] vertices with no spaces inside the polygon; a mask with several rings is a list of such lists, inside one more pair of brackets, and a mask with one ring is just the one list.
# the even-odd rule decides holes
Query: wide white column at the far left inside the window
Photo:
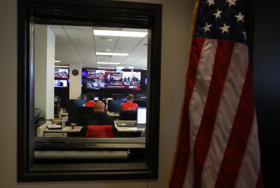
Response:
[{"label": "wide white column at the far left inside the window", "polygon": [[55,33],[44,25],[35,25],[35,108],[41,117],[54,118]]}]

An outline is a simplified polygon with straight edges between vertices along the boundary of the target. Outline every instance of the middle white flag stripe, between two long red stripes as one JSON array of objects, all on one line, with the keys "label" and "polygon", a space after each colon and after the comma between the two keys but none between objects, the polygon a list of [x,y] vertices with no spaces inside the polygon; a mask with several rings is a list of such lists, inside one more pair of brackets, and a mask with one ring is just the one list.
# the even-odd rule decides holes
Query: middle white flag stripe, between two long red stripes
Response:
[{"label": "middle white flag stripe, between two long red stripes", "polygon": [[235,43],[201,177],[201,187],[213,188],[222,163],[246,77],[247,46]]}]

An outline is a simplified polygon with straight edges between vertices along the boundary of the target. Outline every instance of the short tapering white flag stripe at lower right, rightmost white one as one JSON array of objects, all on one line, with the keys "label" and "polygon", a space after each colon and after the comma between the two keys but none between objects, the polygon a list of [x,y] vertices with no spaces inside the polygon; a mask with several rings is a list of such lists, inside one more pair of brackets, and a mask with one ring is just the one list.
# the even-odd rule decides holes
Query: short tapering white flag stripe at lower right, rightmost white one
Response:
[{"label": "short tapering white flag stripe at lower right, rightmost white one", "polygon": [[260,148],[258,146],[258,123],[255,113],[252,130],[234,188],[256,187],[260,172]]}]

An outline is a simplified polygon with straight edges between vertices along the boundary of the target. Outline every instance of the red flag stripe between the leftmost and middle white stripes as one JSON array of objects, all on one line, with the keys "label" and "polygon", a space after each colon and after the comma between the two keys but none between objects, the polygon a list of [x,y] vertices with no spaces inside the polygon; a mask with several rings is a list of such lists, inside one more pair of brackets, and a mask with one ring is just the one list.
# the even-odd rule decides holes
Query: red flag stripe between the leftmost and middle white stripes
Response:
[{"label": "red flag stripe between the leftmost and middle white stripes", "polygon": [[194,143],[194,186],[201,187],[201,174],[209,150],[215,118],[224,87],[227,70],[232,56],[234,42],[218,40],[212,78],[201,119],[199,131]]}]

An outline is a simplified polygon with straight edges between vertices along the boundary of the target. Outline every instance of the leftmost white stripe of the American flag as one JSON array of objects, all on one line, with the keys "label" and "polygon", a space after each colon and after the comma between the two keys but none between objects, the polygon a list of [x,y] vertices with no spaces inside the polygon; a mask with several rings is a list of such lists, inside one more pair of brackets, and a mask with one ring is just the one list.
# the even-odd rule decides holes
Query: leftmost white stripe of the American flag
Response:
[{"label": "leftmost white stripe of the American flag", "polygon": [[189,103],[190,132],[187,135],[190,143],[190,155],[187,168],[186,180],[183,187],[192,186],[193,177],[193,147],[196,134],[199,129],[202,114],[204,111],[208,88],[210,86],[213,65],[215,60],[217,40],[205,39],[204,46],[200,55],[199,65],[195,79],[195,86]]}]

